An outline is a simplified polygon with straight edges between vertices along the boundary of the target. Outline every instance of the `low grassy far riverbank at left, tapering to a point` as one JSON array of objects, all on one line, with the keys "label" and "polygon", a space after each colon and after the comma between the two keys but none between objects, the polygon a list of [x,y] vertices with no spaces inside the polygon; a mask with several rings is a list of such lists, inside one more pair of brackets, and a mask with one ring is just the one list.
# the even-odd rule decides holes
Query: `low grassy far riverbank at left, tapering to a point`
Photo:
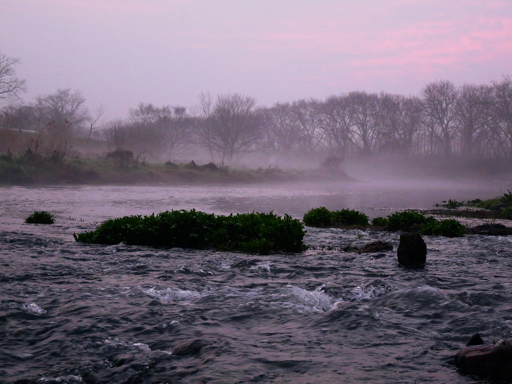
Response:
[{"label": "low grassy far riverbank at left, tapering to a point", "polygon": [[352,180],[338,170],[236,169],[214,163],[199,165],[146,163],[122,156],[105,159],[66,158],[62,153],[0,156],[0,184],[202,184]]}]

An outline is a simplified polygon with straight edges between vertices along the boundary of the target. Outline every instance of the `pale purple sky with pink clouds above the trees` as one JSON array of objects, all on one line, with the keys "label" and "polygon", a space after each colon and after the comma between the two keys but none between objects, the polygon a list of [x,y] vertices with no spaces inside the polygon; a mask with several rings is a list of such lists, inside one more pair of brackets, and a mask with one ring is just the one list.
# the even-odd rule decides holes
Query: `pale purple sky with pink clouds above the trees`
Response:
[{"label": "pale purple sky with pink clouds above the trees", "polygon": [[202,91],[415,94],[512,75],[512,1],[5,0],[0,52],[23,60],[25,100],[80,89],[111,118]]}]

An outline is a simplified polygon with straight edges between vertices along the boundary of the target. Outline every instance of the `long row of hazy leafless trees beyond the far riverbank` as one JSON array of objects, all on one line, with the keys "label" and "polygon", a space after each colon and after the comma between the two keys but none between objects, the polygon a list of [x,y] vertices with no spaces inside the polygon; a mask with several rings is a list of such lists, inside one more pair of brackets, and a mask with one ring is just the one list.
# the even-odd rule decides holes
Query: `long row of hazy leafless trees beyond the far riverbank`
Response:
[{"label": "long row of hazy leafless trees beyond the far riverbank", "polygon": [[191,108],[139,103],[124,119],[103,121],[79,91],[57,90],[31,103],[7,103],[0,114],[0,152],[13,148],[5,132],[33,131],[47,150],[71,138],[102,141],[153,159],[176,159],[191,147],[232,162],[249,153],[338,157],[437,156],[512,162],[512,81],[448,80],[417,96],[354,91],[258,106],[241,94],[201,94]]}]

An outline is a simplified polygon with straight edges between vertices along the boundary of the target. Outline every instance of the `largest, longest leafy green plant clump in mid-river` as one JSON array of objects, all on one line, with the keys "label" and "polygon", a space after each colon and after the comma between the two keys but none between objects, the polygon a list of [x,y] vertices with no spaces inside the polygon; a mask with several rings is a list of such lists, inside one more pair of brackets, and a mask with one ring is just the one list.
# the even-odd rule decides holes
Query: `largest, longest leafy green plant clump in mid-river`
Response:
[{"label": "largest, longest leafy green plant clump in mid-river", "polygon": [[92,244],[148,245],[153,247],[216,248],[269,254],[300,252],[304,224],[272,212],[215,216],[192,210],[165,211],[155,216],[125,216],[107,220],[96,230],[73,234],[76,241]]}]

